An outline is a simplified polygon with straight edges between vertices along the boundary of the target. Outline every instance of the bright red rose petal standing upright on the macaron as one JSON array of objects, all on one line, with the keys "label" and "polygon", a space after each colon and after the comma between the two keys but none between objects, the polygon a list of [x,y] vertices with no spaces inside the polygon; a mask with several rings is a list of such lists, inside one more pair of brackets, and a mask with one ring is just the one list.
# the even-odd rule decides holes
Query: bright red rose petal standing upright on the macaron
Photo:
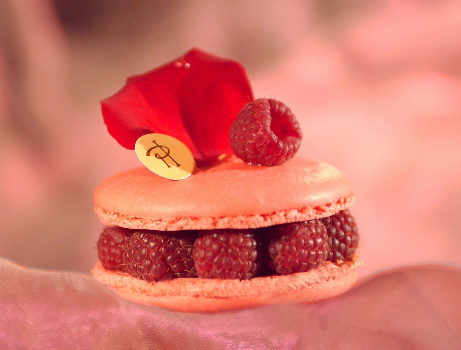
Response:
[{"label": "bright red rose petal standing upright on the macaron", "polygon": [[232,153],[229,128],[248,101],[253,93],[242,65],[192,49],[128,78],[101,108],[107,130],[125,148],[158,132],[181,140],[203,162]]}]

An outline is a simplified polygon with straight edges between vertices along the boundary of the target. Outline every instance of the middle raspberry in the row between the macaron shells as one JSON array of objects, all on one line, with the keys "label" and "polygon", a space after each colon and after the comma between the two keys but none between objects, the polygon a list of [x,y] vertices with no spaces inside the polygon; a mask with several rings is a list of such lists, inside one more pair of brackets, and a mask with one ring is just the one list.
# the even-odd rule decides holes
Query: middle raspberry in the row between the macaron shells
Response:
[{"label": "middle raspberry in the row between the macaron shells", "polygon": [[260,242],[250,230],[203,230],[194,246],[203,279],[251,279],[261,265]]}]

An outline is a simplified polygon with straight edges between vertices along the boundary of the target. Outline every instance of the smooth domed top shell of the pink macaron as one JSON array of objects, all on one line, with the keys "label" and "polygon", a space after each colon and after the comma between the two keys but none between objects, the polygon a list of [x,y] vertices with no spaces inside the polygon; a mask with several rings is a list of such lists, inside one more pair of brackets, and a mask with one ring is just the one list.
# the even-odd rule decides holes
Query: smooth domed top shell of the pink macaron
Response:
[{"label": "smooth domed top shell of the pink macaron", "polygon": [[349,208],[354,194],[344,173],[326,163],[296,157],[269,167],[231,158],[177,181],[144,166],[121,172],[102,181],[94,202],[105,225],[165,231],[318,219]]}]

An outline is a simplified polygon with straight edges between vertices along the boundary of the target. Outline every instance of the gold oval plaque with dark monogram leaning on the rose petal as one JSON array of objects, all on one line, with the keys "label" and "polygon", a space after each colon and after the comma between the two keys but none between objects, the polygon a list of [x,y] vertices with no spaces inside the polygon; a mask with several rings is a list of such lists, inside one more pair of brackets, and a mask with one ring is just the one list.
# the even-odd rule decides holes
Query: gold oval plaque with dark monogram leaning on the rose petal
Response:
[{"label": "gold oval plaque with dark monogram leaning on the rose petal", "polygon": [[189,148],[165,134],[146,134],[136,140],[135,151],[151,172],[163,178],[181,180],[192,174],[195,160]]}]

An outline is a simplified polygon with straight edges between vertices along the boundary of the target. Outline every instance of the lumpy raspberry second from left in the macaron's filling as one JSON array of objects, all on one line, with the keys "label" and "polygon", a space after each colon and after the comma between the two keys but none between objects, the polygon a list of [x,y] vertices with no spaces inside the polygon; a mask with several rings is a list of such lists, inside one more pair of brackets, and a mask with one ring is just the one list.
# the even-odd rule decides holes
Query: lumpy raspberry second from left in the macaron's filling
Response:
[{"label": "lumpy raspberry second from left in the macaron's filling", "polygon": [[131,276],[155,282],[179,277],[196,277],[190,231],[140,231],[125,244],[123,261]]}]

